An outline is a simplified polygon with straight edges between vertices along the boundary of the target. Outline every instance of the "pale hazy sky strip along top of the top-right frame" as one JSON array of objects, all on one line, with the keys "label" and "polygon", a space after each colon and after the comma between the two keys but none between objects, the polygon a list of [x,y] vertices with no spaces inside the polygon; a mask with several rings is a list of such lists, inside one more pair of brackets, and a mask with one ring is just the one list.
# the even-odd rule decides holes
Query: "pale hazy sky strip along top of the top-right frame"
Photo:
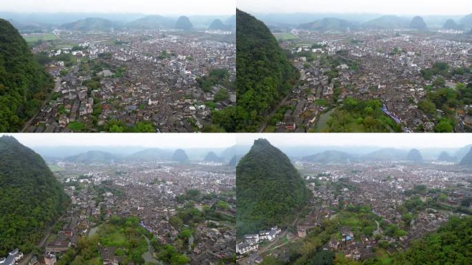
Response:
[{"label": "pale hazy sky strip along top of the top-right frame", "polygon": [[253,13],[335,12],[378,14],[469,14],[471,0],[237,0]]}]

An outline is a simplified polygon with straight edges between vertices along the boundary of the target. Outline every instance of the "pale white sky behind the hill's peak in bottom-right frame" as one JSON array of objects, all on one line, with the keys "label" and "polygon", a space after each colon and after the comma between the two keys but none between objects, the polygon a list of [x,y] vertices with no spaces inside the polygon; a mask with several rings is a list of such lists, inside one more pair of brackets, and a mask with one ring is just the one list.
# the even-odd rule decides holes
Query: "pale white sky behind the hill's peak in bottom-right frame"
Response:
[{"label": "pale white sky behind the hill's peak in bottom-right frame", "polygon": [[379,146],[392,148],[460,148],[472,144],[464,133],[260,133],[238,134],[237,144],[252,145],[265,138],[274,146]]}]

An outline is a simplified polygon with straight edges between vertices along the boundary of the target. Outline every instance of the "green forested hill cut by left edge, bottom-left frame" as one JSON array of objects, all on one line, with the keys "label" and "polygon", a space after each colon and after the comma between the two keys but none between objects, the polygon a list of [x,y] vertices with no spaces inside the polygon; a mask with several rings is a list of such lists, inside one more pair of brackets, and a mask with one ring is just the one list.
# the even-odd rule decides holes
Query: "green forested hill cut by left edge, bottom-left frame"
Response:
[{"label": "green forested hill cut by left edge, bottom-left frame", "polygon": [[9,136],[0,137],[0,257],[31,251],[70,199],[43,159]]}]

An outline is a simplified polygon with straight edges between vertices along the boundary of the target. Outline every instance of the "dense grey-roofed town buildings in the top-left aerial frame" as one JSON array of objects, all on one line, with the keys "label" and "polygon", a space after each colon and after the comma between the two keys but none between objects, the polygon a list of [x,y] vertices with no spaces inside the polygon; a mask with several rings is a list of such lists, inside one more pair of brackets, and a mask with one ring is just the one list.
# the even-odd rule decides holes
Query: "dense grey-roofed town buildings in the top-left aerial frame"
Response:
[{"label": "dense grey-roofed town buildings in the top-left aerial frame", "polygon": [[[205,102],[213,101],[218,90],[228,90],[230,97],[215,102],[215,109],[235,104],[233,90],[218,84],[204,92],[197,82],[210,70],[222,68],[228,70],[230,81],[235,79],[235,43],[185,33],[58,34],[77,43],[80,50],[48,50],[55,97],[30,121],[24,129],[27,132],[67,133],[72,121],[84,124],[82,130],[100,131],[111,119],[126,126],[146,121],[156,132],[195,132],[211,124],[211,110]],[[73,62],[55,59],[64,54]],[[99,82],[98,88],[88,85],[90,81]]]}]

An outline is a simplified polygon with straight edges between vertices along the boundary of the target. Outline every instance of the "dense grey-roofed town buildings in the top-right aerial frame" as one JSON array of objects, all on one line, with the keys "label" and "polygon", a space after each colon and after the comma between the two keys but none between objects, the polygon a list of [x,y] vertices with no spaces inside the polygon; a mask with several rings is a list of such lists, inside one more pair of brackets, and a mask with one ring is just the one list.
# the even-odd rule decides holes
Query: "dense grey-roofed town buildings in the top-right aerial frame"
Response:
[{"label": "dense grey-roofed town buildings in the top-right aerial frame", "polygon": [[[297,36],[310,45],[296,46],[282,43],[291,50],[296,59],[294,65],[301,74],[302,85],[295,88],[286,104],[291,108],[277,124],[277,132],[306,132],[317,128],[325,114],[325,104],[355,99],[380,99],[390,117],[402,124],[404,131],[422,130],[432,132],[434,117],[417,108],[426,97],[425,86],[433,80],[424,79],[420,70],[431,68],[436,61],[449,63],[452,68],[471,66],[472,45],[449,37],[431,37],[401,32],[362,31],[346,34],[298,32]],[[318,48],[319,47],[319,48]],[[315,59],[298,56],[300,52],[313,52]],[[330,65],[328,57],[337,59]],[[333,77],[333,71],[337,72]],[[446,87],[455,88],[458,83],[468,84],[472,75],[444,77]],[[458,126],[455,131],[464,132],[472,120],[467,106],[458,109]],[[442,115],[438,110],[437,115]],[[287,124],[291,126],[287,126]],[[321,128],[317,128],[321,129]]]}]

